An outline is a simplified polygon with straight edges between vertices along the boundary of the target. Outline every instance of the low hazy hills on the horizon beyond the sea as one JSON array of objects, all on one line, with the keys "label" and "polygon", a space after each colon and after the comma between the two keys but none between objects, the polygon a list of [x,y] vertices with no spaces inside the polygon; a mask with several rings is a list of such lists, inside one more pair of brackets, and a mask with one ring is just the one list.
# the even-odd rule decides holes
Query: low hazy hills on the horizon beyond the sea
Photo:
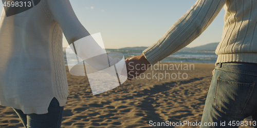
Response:
[{"label": "low hazy hills on the horizon beyond the sea", "polygon": [[[193,48],[183,48],[181,50],[206,50],[206,51],[215,51],[218,46],[218,42],[212,42],[210,44],[202,45],[202,46],[197,46]],[[126,47],[126,48],[121,48],[119,50],[140,50],[143,51],[147,49],[148,47]]]}]

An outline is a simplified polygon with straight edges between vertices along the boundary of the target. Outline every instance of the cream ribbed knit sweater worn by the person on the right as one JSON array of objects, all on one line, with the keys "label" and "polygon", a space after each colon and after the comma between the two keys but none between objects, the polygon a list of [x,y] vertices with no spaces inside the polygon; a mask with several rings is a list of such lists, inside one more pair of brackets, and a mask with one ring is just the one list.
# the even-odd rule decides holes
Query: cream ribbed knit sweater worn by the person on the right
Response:
[{"label": "cream ribbed knit sweater worn by the person on the right", "polygon": [[256,0],[198,0],[156,44],[143,51],[144,56],[154,64],[186,47],[204,32],[223,7],[225,25],[215,51],[216,63],[257,63]]}]

